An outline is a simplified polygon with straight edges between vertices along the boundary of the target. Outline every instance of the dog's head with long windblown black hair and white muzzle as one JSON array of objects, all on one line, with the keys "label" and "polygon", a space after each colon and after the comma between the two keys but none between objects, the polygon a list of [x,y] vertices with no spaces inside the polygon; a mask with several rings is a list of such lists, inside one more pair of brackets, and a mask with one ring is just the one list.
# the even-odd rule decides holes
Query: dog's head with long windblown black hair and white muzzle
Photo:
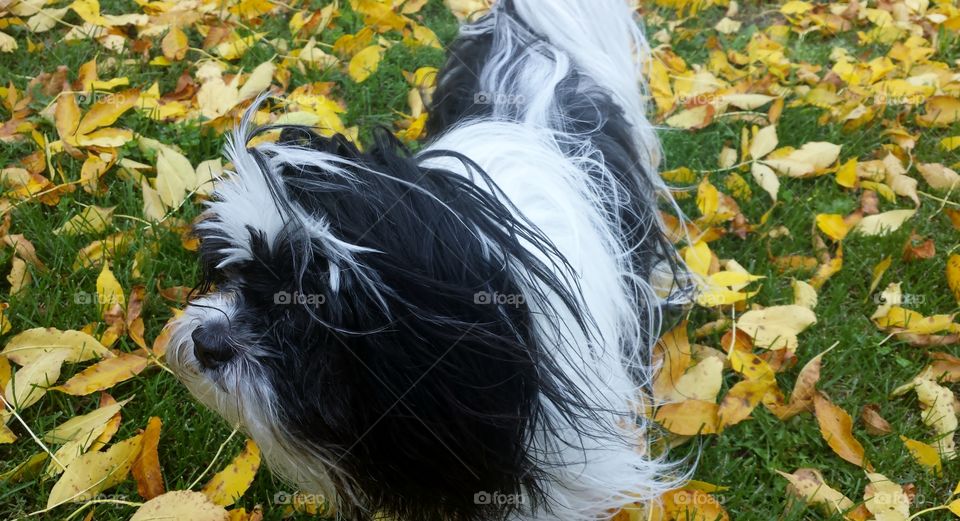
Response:
[{"label": "dog's head with long windblown black hair and white muzzle", "polygon": [[455,153],[468,175],[386,131],[364,153],[245,129],[195,229],[211,291],[174,326],[177,375],[311,492],[431,519],[535,491],[544,408],[583,414],[531,312],[576,309],[562,257]]}]

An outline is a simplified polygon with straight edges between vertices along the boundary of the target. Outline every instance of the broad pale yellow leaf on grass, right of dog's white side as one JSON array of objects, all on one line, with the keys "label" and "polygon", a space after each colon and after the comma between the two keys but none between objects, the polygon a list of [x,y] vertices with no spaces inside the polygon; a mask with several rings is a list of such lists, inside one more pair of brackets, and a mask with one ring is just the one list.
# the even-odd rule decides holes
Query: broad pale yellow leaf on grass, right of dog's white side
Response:
[{"label": "broad pale yellow leaf on grass, right of dog's white side", "polygon": [[757,347],[795,351],[797,335],[816,323],[817,316],[809,308],[788,305],[748,311],[737,321],[737,327],[750,335]]}]

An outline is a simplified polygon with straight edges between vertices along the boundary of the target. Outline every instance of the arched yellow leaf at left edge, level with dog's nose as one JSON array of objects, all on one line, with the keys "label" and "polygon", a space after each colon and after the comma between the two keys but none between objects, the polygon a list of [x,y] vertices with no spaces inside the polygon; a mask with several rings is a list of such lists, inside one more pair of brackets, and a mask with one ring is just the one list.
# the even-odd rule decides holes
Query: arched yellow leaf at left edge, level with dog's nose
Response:
[{"label": "arched yellow leaf at left edge, level with dog's nose", "polygon": [[54,351],[64,351],[65,360],[70,363],[114,356],[109,349],[86,333],[42,327],[14,336],[0,354],[20,365],[27,365]]}]

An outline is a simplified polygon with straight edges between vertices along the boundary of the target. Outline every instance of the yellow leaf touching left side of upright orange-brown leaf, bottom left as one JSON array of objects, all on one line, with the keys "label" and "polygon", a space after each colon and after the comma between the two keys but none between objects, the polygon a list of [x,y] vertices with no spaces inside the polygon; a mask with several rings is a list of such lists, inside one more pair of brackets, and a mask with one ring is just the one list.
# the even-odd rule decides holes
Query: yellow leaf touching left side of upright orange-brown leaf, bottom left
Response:
[{"label": "yellow leaf touching left side of upright orange-brown leaf, bottom left", "polygon": [[50,490],[47,508],[68,502],[85,502],[127,478],[140,453],[141,435],[115,443],[103,452],[88,452],[67,466]]}]

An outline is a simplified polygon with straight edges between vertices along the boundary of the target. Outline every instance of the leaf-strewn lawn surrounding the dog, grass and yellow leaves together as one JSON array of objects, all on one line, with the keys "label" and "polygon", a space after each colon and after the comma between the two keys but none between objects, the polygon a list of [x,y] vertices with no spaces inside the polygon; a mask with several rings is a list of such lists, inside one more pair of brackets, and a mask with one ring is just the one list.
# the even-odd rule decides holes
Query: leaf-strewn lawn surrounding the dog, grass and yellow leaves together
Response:
[{"label": "leaf-strewn lawn surrounding the dog, grass and yellow leaves together", "polygon": [[[672,445],[696,481],[664,498],[666,512],[628,508],[622,519],[871,519],[879,503],[945,505],[960,481],[956,402],[924,391],[951,397],[960,382],[948,356],[960,356],[960,9],[717,3],[639,8],[655,48],[662,170],[687,187],[676,197],[692,226],[677,248],[704,282],[678,326],[689,341],[660,351],[664,371],[691,376],[661,377],[658,397],[684,406],[655,413],[655,450]],[[293,512],[297,491],[266,468],[254,474],[243,436],[165,370],[163,326],[200,275],[189,225],[221,167],[223,132],[259,90],[286,100],[261,122],[282,115],[361,143],[386,126],[417,148],[429,138],[429,68],[443,63],[456,15],[479,4],[0,1],[0,342],[82,331],[129,364],[91,379],[85,369],[108,358],[68,359],[11,393],[29,364],[0,357],[6,398],[35,401],[0,430],[0,519],[78,509],[77,519],[129,519],[156,493],[144,468],[159,468],[167,491],[205,490],[234,519],[317,518]],[[808,363],[828,349],[812,377]],[[895,395],[905,384],[919,392]],[[38,455],[65,441],[49,433],[114,400],[120,419],[105,416],[78,443],[105,453],[135,440],[150,452],[150,436],[137,436],[155,434],[158,418],[158,465],[133,454],[132,475],[110,467],[115,486],[47,511],[62,478]],[[232,462],[250,472],[218,496],[208,483]],[[788,489],[780,473],[798,469],[819,471],[833,499],[825,487],[804,495],[809,481]],[[681,513],[684,502],[697,512]],[[906,519],[885,515],[899,517],[875,518]]]}]

